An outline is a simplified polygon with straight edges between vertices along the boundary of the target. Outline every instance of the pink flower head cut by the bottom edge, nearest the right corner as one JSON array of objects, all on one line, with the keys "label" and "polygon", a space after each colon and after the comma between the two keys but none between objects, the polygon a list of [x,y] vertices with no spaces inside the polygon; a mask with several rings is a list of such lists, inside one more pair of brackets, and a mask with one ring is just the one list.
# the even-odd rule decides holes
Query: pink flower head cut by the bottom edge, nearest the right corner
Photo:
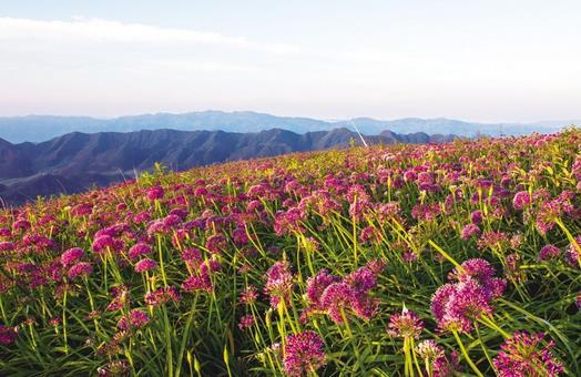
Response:
[{"label": "pink flower head cut by the bottom edge, nearest the right corner", "polygon": [[502,351],[492,360],[500,377],[558,376],[564,370],[551,354],[554,343],[542,344],[544,335],[516,332],[500,348]]}]

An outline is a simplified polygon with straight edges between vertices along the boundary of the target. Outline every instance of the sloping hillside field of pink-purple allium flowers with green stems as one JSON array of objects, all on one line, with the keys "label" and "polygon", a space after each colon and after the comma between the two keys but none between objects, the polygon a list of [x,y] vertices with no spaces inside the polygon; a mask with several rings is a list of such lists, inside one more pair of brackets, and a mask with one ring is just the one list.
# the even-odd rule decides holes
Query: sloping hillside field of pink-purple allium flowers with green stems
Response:
[{"label": "sloping hillside field of pink-purple allium flowers with green stems", "polygon": [[581,131],[0,212],[0,375],[580,376]]}]

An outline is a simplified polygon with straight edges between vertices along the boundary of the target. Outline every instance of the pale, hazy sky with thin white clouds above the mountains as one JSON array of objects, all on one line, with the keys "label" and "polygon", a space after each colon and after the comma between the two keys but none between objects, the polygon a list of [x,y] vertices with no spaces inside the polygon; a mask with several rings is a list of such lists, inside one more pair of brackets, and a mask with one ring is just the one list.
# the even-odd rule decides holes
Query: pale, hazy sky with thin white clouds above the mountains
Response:
[{"label": "pale, hazy sky with thin white clouds above the mountains", "polygon": [[581,1],[0,0],[0,116],[581,119]]}]

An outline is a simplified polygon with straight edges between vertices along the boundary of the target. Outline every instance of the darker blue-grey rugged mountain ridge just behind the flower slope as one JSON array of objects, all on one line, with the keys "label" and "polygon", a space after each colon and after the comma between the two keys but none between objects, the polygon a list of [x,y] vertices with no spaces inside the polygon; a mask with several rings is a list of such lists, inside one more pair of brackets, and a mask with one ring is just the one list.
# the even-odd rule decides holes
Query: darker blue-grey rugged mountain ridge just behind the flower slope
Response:
[{"label": "darker blue-grey rugged mountain ridge just behind the flower slope", "polygon": [[[365,136],[369,144],[447,142],[453,135]],[[272,129],[257,133],[155,130],[129,133],[73,132],[42,143],[13,144],[0,139],[0,198],[16,204],[38,195],[77,193],[132,179],[163,162],[172,170],[289,152],[345,147],[359,135],[345,128],[298,134]]]}]

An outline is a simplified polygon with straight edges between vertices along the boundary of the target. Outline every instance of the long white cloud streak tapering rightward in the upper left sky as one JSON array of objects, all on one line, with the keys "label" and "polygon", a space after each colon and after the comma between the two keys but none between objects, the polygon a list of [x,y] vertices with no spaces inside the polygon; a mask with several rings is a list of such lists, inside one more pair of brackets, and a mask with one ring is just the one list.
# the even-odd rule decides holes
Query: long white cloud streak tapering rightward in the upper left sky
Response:
[{"label": "long white cloud streak tapering rightward in the upper left sky", "polygon": [[287,44],[249,41],[216,32],[160,28],[142,23],[123,23],[103,19],[74,18],[71,21],[41,21],[0,17],[0,42],[42,41],[47,43],[153,44],[153,45],[217,45],[254,50],[272,54],[299,51]]}]

